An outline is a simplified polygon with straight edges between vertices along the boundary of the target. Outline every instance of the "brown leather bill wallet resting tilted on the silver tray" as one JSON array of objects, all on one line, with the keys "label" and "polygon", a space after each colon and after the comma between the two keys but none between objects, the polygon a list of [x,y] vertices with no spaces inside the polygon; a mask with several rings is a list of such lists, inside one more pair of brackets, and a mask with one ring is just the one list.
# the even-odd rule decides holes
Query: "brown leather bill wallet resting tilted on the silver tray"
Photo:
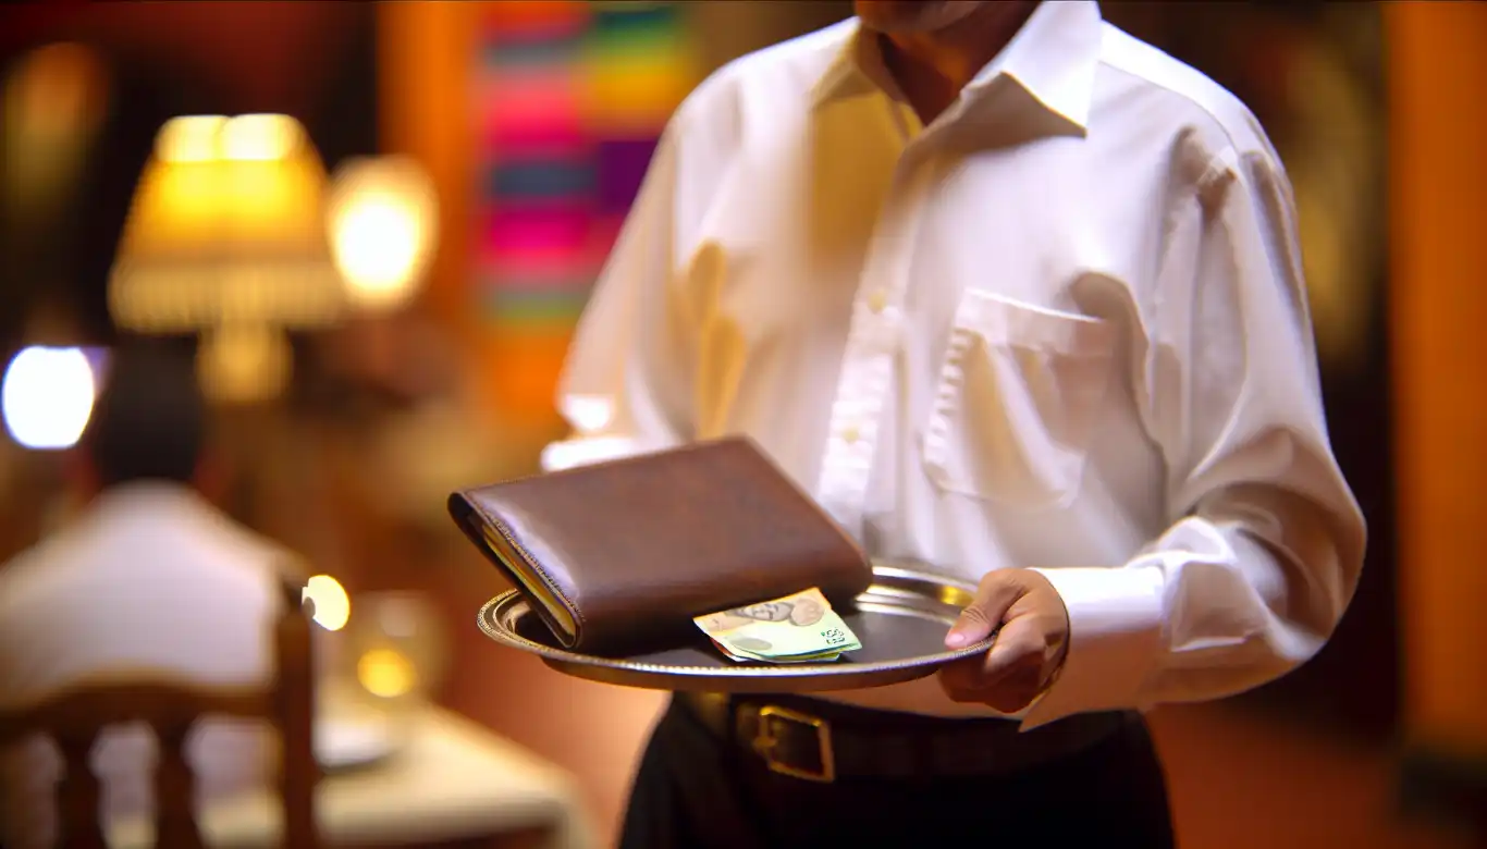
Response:
[{"label": "brown leather bill wallet resting tilted on the silver tray", "polygon": [[449,514],[564,648],[696,636],[706,613],[819,587],[851,607],[867,555],[746,437],[455,492]]}]

